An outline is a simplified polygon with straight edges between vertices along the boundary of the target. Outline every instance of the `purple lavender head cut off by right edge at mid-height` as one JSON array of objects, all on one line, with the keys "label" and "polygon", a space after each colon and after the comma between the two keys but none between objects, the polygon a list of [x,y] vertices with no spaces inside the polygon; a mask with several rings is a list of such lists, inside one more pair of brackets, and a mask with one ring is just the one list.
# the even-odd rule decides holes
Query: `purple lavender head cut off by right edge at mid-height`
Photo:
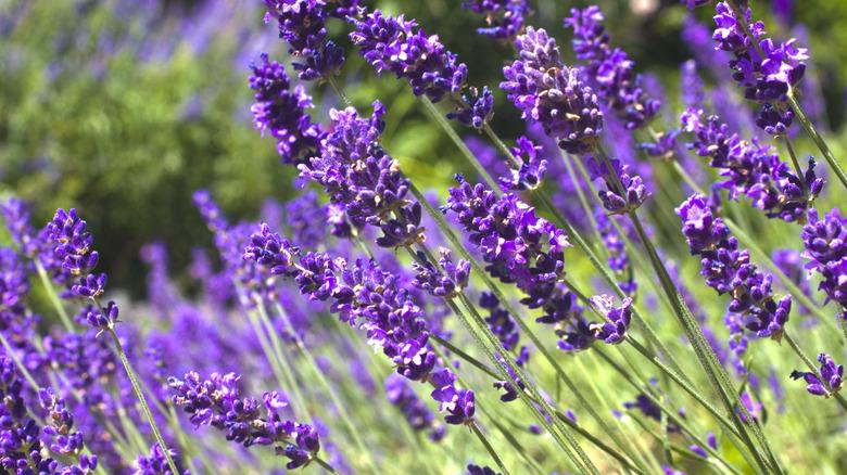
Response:
[{"label": "purple lavender head cut off by right edge at mid-height", "polygon": [[818,210],[811,209],[801,236],[807,267],[821,277],[818,288],[840,305],[842,318],[847,318],[847,218],[833,209],[820,219]]}]

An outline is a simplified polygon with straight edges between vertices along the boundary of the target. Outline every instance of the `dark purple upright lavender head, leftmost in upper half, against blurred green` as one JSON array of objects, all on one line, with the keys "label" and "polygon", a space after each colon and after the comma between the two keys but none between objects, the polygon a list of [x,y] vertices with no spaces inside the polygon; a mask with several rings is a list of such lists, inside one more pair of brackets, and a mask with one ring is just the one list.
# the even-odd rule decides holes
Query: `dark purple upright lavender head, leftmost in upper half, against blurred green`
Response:
[{"label": "dark purple upright lavender head, leftmost in upper half, against blurred green", "polygon": [[303,86],[293,89],[286,68],[268,61],[263,53],[260,64],[253,64],[250,88],[255,102],[250,107],[253,126],[263,134],[267,131],[277,141],[277,153],[285,164],[300,164],[317,154],[321,130],[305,112],[314,107]]}]

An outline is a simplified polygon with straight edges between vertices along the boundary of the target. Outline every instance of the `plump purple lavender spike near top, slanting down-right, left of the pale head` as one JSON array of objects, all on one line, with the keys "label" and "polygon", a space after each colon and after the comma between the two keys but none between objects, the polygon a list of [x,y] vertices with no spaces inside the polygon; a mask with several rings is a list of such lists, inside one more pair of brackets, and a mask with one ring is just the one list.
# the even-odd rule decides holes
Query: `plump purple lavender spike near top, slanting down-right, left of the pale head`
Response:
[{"label": "plump purple lavender spike near top, slanting down-right, left of the pale head", "polygon": [[432,102],[465,87],[467,66],[414,20],[384,16],[376,10],[351,22],[356,28],[351,41],[378,75],[394,73],[397,79],[408,80],[415,95],[426,94]]}]

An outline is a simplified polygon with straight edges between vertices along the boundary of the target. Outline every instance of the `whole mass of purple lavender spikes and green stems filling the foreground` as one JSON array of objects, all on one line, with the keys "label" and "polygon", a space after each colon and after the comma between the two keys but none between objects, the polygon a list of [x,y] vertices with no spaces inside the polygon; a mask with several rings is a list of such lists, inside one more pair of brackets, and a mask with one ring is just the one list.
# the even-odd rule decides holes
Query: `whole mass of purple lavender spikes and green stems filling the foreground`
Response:
[{"label": "whole mass of purple lavender spikes and green stems filling the foreground", "polygon": [[[511,48],[497,89],[438,24],[260,3],[281,41],[242,69],[238,119],[294,196],[238,220],[194,190],[214,252],[184,270],[142,247],[142,301],[106,287],[108,229],[0,207],[4,471],[837,471],[800,444],[847,411],[847,219],[796,40],[734,1],[713,31],[690,16],[675,105],[597,5],[564,18],[566,51],[530,2],[462,2],[475,41]],[[380,77],[403,100],[369,97]],[[465,159],[427,193],[414,97]]]}]

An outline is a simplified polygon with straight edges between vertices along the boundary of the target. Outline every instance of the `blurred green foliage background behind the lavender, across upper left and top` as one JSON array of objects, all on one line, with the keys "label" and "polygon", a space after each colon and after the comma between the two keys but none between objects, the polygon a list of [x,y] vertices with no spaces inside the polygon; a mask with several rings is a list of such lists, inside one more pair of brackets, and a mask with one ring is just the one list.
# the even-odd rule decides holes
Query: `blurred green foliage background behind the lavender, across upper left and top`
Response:
[{"label": "blurred green foliage background behind the lavender, across upper left and top", "polygon": [[[364,3],[418,18],[468,64],[471,84],[498,84],[511,51],[478,37],[481,20],[460,0]],[[587,2],[531,3],[529,23],[556,35],[567,54],[561,18]],[[675,98],[679,64],[691,57],[680,40],[687,10],[672,0],[597,3],[614,43]],[[826,115],[843,137],[847,49],[832,46],[847,44],[847,2],[795,1],[782,21],[769,2],[753,7],[776,38],[806,25]],[[710,11],[698,12],[709,25]],[[250,120],[249,64],[262,51],[277,59],[286,51],[263,12],[261,0],[0,0],[0,194],[33,202],[39,223],[56,207],[79,208],[103,270],[136,293],[143,287],[142,244],[165,241],[181,269],[191,247],[208,243],[191,204],[194,190],[210,189],[233,219],[254,218],[266,197],[290,196],[293,170],[278,165],[271,141],[260,139]],[[350,51],[345,25],[330,27],[349,51],[343,82],[353,102],[379,98],[389,107],[388,150],[423,184],[446,185],[457,171],[450,140],[405,85],[375,80]],[[326,86],[309,88],[317,100]],[[329,93],[321,107],[333,101]],[[516,137],[523,125],[504,101],[497,97],[495,128]],[[324,110],[315,114],[326,117]]]}]

